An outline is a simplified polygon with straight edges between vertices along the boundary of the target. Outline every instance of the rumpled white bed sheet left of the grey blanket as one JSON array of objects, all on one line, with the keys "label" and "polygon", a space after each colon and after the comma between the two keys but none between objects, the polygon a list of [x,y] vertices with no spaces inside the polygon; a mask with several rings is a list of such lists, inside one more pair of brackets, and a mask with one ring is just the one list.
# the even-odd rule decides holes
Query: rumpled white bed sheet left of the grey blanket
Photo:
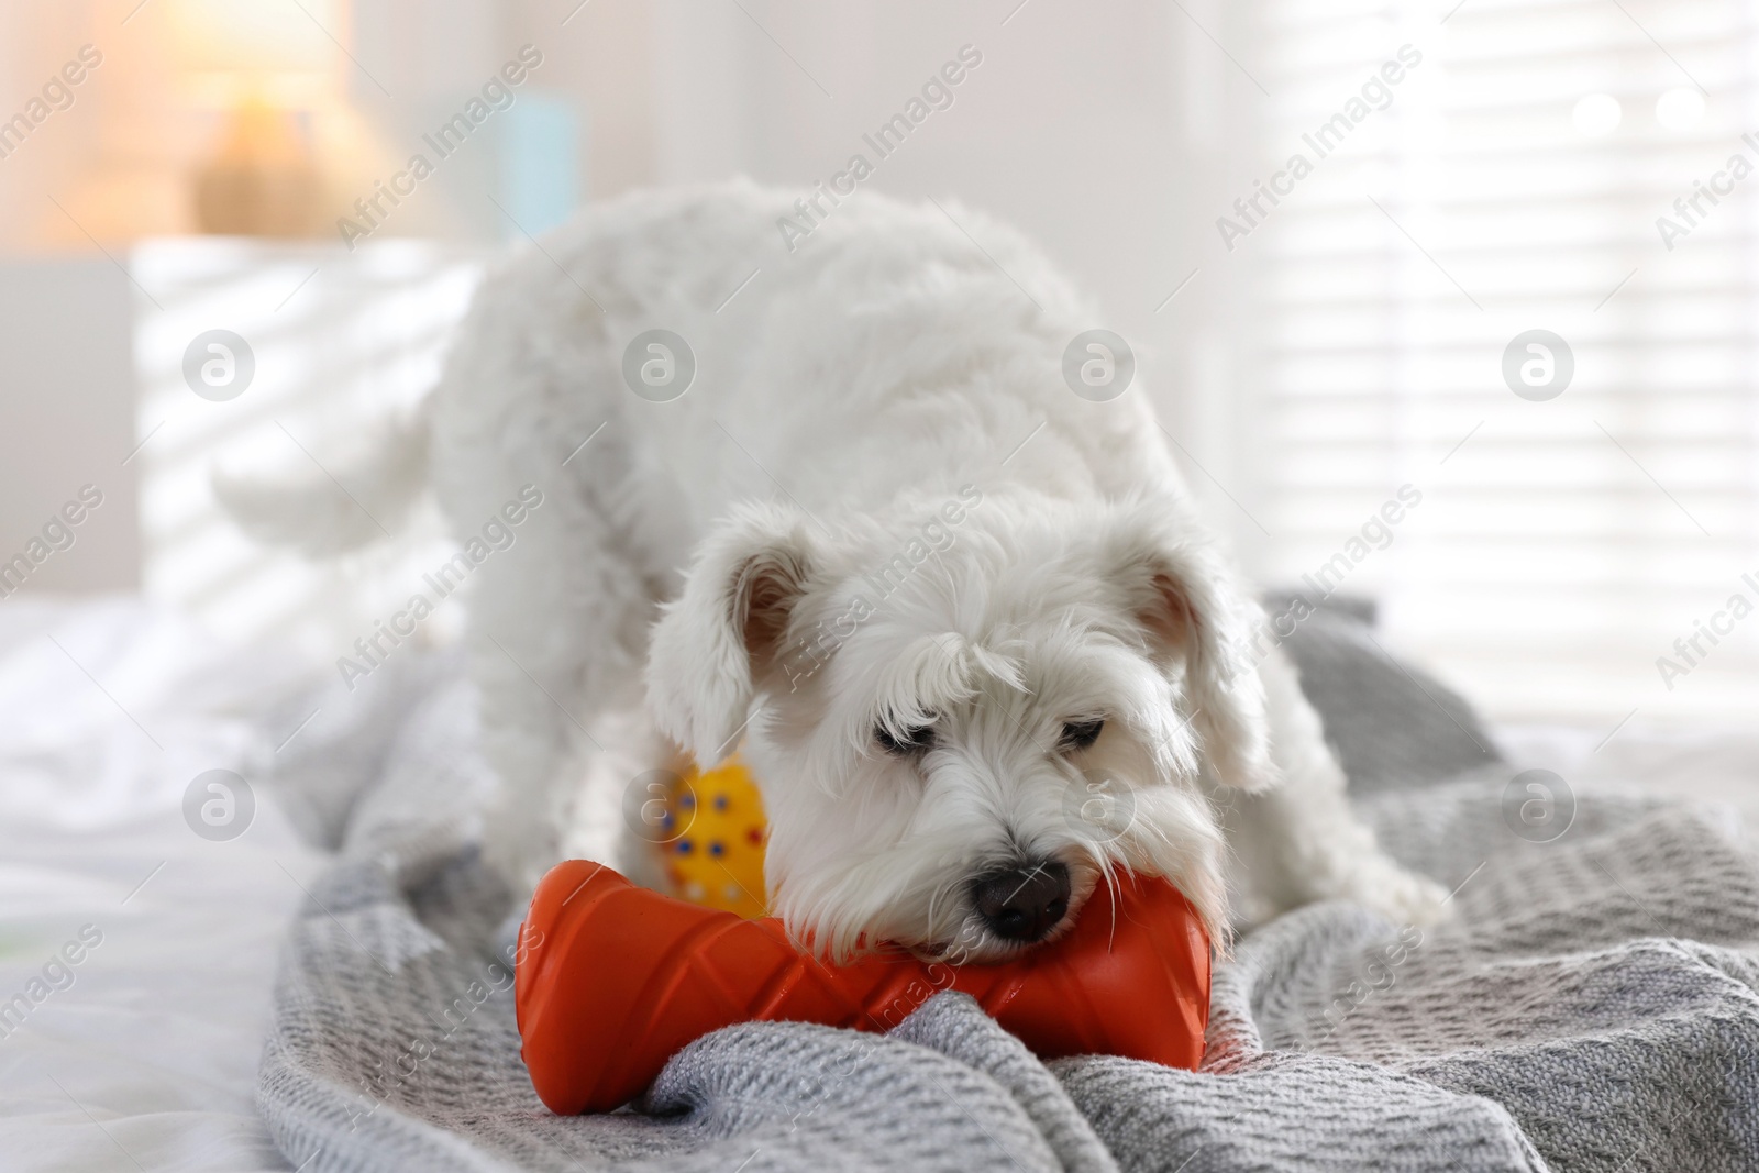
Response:
[{"label": "rumpled white bed sheet left of the grey blanket", "polygon": [[276,948],[324,860],[260,791],[230,842],[181,804],[243,765],[250,714],[296,677],[135,601],[0,605],[0,1009],[102,934],[0,1022],[0,1169],[292,1168],[253,1090]]}]

